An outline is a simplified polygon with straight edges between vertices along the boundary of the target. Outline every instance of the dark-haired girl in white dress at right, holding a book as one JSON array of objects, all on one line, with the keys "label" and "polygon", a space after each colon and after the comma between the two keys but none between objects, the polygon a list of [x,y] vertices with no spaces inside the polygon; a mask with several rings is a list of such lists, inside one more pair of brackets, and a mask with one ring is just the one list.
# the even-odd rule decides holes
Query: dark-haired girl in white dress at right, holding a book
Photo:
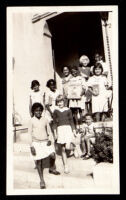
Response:
[{"label": "dark-haired girl in white dress at right, holding a book", "polygon": [[92,93],[92,113],[96,121],[104,121],[105,113],[108,112],[108,98],[111,96],[111,91],[107,90],[107,78],[102,72],[102,64],[96,63],[93,68],[94,75],[88,80],[88,88]]}]

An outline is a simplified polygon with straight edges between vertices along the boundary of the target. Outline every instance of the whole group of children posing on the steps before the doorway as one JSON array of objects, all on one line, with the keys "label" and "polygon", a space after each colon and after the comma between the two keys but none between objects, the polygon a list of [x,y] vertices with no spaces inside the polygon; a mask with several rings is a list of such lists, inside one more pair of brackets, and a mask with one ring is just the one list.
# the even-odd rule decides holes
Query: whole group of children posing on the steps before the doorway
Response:
[{"label": "whole group of children posing on the steps before the doorway", "polygon": [[[43,178],[44,158],[50,158],[49,173],[60,175],[55,165],[55,143],[61,146],[64,173],[69,173],[67,156],[76,156],[78,132],[81,135],[81,157],[88,159],[91,157],[91,144],[95,142],[93,121],[104,120],[111,103],[112,92],[107,83],[108,71],[100,55],[96,55],[96,62],[92,67],[88,66],[89,58],[86,55],[81,56],[80,64],[79,68],[63,67],[62,91],[56,89],[54,79],[47,81],[47,91],[44,95],[37,80],[31,83],[31,154],[36,163],[42,189],[46,188]],[[77,85],[79,89],[73,98],[70,92],[71,85]]]}]

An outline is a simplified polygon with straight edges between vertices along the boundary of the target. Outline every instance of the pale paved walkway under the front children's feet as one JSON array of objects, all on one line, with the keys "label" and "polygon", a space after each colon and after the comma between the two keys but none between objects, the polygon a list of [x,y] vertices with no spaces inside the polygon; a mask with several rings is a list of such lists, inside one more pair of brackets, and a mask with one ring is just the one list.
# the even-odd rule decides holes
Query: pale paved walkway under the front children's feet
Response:
[{"label": "pale paved walkway under the front children's feet", "polygon": [[[45,165],[48,165],[46,160]],[[44,178],[48,189],[56,188],[92,188],[94,181],[91,176],[95,165],[93,159],[82,160],[81,158],[68,158],[69,174],[64,174],[60,156],[57,156],[56,166],[61,175],[55,176],[44,169]],[[14,189],[39,189],[39,176],[34,169],[34,161],[29,152],[14,152]]]}]

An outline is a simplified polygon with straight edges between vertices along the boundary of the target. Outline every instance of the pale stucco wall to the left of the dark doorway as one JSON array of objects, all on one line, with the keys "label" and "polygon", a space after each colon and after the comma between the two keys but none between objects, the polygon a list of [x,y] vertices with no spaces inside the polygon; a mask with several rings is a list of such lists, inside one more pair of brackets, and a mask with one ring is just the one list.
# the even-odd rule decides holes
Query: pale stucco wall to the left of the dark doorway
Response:
[{"label": "pale stucco wall to the left of the dark doorway", "polygon": [[37,79],[45,90],[53,78],[51,38],[43,35],[44,20],[32,23],[33,13],[13,14],[14,104],[22,118],[29,120],[29,91],[31,81]]}]

